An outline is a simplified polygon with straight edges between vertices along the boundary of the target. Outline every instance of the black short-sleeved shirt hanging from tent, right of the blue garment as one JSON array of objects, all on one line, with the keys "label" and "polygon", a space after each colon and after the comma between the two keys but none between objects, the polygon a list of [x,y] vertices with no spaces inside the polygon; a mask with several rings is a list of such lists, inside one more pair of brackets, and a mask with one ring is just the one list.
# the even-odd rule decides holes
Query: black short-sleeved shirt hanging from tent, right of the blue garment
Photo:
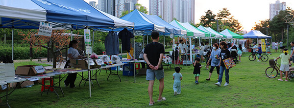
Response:
[{"label": "black short-sleeved shirt hanging from tent, right of the blue garment", "polygon": [[131,38],[133,38],[134,35],[130,31],[128,31],[126,28],[124,28],[119,33],[119,38],[122,39],[122,49],[123,51],[129,51],[130,50],[130,44],[131,44]]}]

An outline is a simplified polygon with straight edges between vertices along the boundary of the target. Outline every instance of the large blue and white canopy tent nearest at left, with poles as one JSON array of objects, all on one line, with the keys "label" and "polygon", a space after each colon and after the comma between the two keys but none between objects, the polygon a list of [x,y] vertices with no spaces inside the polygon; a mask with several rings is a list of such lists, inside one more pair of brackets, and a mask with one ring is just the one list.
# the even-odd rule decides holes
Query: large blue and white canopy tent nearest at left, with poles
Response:
[{"label": "large blue and white canopy tent nearest at left, with poles", "polygon": [[[12,59],[14,28],[39,29],[40,21],[68,30],[134,28],[133,22],[103,13],[83,0],[0,0],[0,28],[12,28]],[[90,78],[89,89],[91,97]]]}]

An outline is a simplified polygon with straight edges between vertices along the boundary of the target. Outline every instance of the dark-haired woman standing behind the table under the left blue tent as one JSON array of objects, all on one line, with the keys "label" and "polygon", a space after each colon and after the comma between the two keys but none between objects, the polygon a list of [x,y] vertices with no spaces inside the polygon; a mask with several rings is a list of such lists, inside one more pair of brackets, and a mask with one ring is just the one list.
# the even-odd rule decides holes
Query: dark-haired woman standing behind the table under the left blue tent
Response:
[{"label": "dark-haired woman standing behind the table under the left blue tent", "polygon": [[[85,58],[84,56],[81,56],[78,53],[78,51],[76,50],[76,47],[77,47],[77,41],[76,40],[70,41],[69,47],[70,47],[70,49],[68,50],[69,60],[66,62],[64,68],[68,68],[71,59]],[[64,85],[66,87],[68,87],[68,86],[70,86],[70,88],[75,87],[74,86],[74,81],[76,79],[76,74],[77,73],[68,73],[68,76],[67,76],[66,80],[64,80]]]}]

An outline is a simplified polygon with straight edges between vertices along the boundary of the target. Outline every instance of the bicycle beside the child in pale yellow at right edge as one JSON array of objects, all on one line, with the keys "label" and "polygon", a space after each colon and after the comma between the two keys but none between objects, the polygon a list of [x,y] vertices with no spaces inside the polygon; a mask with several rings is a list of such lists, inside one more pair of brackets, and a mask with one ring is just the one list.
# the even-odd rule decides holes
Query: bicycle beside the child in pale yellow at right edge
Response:
[{"label": "bicycle beside the child in pale yellow at right edge", "polygon": [[[271,59],[269,61],[270,63],[270,67],[268,67],[266,69],[266,75],[269,77],[269,78],[275,78],[277,77],[277,75],[279,74],[280,72],[280,65],[277,63],[276,60],[274,59]],[[289,66],[291,66],[292,64],[289,64]],[[294,68],[290,67],[289,69],[290,71],[288,72],[288,78],[289,80],[292,80],[294,79]],[[283,72],[283,74],[285,74],[285,72]]]}]

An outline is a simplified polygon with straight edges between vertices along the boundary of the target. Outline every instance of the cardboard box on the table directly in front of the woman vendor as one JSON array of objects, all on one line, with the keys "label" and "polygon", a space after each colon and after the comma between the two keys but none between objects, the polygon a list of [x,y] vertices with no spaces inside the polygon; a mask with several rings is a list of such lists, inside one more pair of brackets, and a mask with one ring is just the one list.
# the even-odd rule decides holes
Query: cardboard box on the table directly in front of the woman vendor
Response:
[{"label": "cardboard box on the table directly in front of the woman vendor", "polygon": [[[88,60],[83,60],[83,59],[71,59],[71,67],[73,68],[81,68],[83,70],[88,69]],[[101,66],[97,65],[93,59],[90,59],[90,69],[93,68],[99,68]]]}]

